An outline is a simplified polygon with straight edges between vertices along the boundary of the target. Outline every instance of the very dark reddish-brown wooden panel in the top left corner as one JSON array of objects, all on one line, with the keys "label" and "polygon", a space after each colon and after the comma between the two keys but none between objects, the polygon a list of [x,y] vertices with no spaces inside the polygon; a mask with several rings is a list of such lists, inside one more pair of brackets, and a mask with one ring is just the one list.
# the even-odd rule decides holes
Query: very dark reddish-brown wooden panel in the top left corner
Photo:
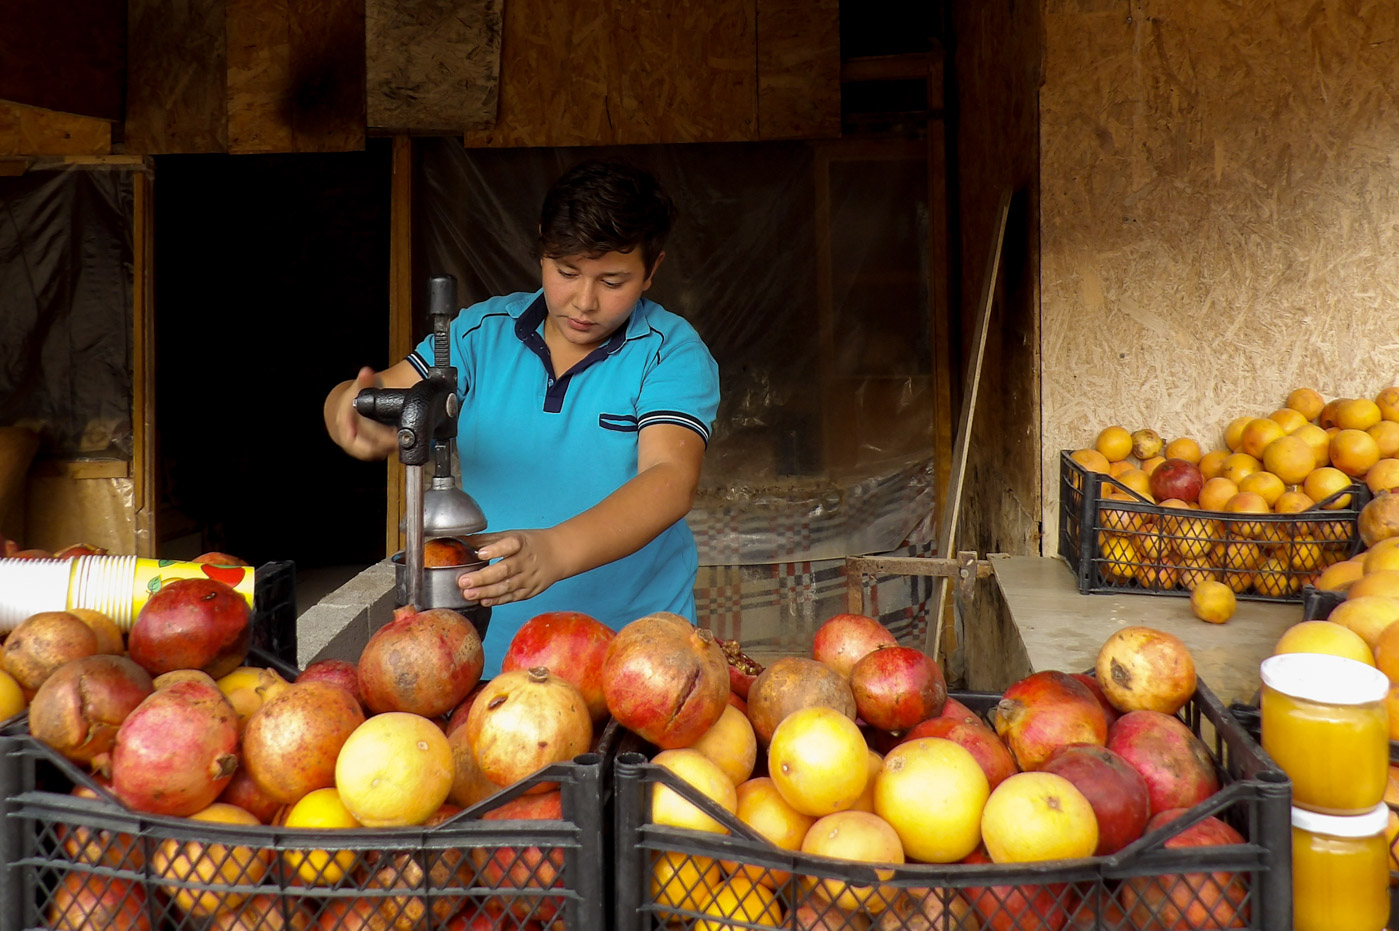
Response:
[{"label": "very dark reddish-brown wooden panel in the top left corner", "polygon": [[10,0],[0,4],[0,99],[122,119],[126,4]]}]

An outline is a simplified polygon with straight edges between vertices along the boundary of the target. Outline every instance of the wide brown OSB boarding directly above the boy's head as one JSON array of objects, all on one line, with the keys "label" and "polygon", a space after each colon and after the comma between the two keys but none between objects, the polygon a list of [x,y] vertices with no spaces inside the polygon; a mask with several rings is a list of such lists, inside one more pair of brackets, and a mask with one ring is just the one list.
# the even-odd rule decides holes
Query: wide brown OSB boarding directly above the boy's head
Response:
[{"label": "wide brown OSB boarding directly above the boy's head", "polygon": [[509,0],[499,116],[464,141],[595,146],[838,134],[838,14],[837,0]]}]

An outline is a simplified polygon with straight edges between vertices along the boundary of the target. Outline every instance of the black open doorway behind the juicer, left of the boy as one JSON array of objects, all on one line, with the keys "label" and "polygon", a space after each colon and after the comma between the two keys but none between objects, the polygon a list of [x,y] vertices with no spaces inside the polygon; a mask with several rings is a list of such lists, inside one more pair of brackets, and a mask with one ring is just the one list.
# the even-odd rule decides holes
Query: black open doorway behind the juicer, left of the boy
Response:
[{"label": "black open doorway behind the juicer, left of the boy", "polygon": [[383,557],[386,469],[330,442],[322,402],[389,363],[390,168],[389,140],[155,158],[161,556]]}]

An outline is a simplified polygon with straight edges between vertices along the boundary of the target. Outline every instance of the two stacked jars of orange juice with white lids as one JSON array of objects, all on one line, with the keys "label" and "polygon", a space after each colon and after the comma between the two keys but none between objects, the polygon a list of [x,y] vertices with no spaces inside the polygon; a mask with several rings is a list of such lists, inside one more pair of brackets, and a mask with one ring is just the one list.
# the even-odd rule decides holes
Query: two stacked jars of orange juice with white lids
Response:
[{"label": "two stacked jars of orange juice with white lids", "polygon": [[1290,652],[1259,668],[1263,750],[1293,784],[1293,927],[1382,931],[1389,920],[1389,678]]}]

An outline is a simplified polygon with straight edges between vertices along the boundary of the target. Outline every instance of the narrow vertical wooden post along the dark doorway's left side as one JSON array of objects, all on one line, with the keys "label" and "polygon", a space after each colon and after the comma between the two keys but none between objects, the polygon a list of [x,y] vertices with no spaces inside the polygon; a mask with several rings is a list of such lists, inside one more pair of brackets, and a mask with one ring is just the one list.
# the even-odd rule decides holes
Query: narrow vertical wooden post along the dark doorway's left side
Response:
[{"label": "narrow vertical wooden post along the dark doorway's left side", "polygon": [[155,556],[155,200],[151,178],[132,175],[132,473],[136,556]]}]

